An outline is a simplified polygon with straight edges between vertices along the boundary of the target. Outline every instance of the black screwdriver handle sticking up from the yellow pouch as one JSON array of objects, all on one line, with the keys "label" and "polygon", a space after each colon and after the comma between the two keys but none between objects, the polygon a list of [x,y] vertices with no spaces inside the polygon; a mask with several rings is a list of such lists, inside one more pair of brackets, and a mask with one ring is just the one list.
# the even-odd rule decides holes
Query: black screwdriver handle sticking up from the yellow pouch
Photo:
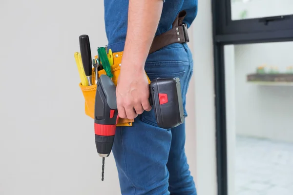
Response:
[{"label": "black screwdriver handle sticking up from the yellow pouch", "polygon": [[88,35],[81,35],[80,39],[80,49],[81,49],[81,56],[84,66],[84,73],[85,76],[92,75],[92,59],[91,59],[91,52],[90,52],[90,44]]}]

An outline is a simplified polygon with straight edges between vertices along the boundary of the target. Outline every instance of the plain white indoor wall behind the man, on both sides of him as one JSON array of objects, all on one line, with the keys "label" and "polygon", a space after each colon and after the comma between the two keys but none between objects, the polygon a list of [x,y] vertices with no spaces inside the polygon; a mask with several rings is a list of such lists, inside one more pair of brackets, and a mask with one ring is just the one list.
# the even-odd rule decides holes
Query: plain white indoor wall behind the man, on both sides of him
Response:
[{"label": "plain white indoor wall behind the man, on both sides of him", "polygon": [[[74,60],[81,34],[89,35],[93,54],[107,43],[103,19],[100,0],[1,1],[1,195],[120,194],[113,156],[101,181]],[[209,1],[200,2],[192,30],[186,152],[198,194],[216,195]]]}]

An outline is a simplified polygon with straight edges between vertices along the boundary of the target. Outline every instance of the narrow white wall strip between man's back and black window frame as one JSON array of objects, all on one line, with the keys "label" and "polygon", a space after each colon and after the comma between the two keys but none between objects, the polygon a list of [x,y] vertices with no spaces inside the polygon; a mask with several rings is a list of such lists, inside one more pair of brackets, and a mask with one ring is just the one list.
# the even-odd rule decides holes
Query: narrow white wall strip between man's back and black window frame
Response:
[{"label": "narrow white wall strip between man's back and black window frame", "polygon": [[[192,24],[196,181],[198,195],[217,195],[211,1],[200,0]],[[191,110],[192,108],[190,108]]]}]

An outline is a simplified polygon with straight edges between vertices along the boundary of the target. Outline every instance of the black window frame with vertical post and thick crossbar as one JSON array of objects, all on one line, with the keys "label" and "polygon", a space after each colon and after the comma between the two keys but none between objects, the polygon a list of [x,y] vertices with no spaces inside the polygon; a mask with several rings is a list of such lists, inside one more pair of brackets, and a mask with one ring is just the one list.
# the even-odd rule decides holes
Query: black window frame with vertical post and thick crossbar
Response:
[{"label": "black window frame with vertical post and thick crossbar", "polygon": [[[293,41],[293,15],[231,20],[230,0],[211,0],[214,91],[216,119],[216,158],[218,195],[228,195],[227,128],[224,47],[229,44],[249,44]],[[260,21],[261,20],[261,21]],[[265,25],[266,20],[268,21]]]}]

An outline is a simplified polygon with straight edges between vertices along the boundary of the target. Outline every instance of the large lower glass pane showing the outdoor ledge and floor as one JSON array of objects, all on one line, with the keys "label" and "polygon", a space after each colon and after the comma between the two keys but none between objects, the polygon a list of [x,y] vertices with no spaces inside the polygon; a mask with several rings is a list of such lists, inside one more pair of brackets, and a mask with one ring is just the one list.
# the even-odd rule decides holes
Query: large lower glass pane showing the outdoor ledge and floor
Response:
[{"label": "large lower glass pane showing the outdoor ledge and floor", "polygon": [[225,46],[229,195],[293,195],[292,51]]}]

